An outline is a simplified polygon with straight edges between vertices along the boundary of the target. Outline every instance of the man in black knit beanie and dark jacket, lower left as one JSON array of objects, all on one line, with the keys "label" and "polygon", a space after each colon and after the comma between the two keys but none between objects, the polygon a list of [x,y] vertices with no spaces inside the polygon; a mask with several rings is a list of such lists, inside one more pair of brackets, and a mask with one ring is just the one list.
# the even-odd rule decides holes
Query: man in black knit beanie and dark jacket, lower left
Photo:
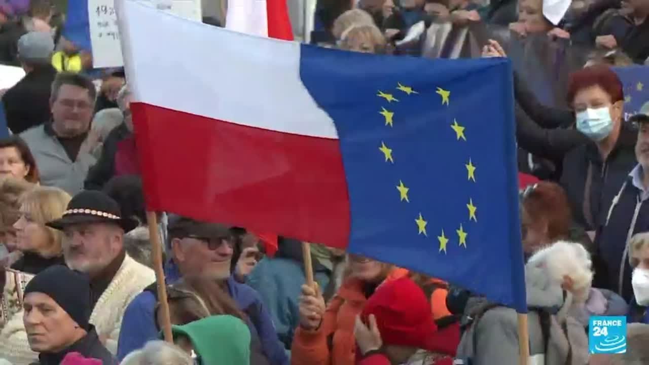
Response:
[{"label": "man in black knit beanie and dark jacket, lower left", "polygon": [[117,364],[99,341],[90,319],[88,276],[56,265],[45,269],[25,288],[23,322],[40,365],[58,365],[68,353]]}]

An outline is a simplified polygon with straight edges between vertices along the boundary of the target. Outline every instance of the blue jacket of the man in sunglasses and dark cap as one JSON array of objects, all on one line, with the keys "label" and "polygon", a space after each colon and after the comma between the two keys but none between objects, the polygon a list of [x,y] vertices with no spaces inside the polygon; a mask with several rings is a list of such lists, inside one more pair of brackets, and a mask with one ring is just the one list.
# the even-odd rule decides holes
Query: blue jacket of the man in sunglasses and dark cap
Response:
[{"label": "blue jacket of the man in sunglasses and dark cap", "polygon": [[[246,284],[238,283],[232,277],[228,279],[228,292],[239,309],[247,313],[251,333],[258,334],[262,349],[271,365],[288,365],[289,359],[284,347],[277,340],[275,326],[271,316],[263,306],[259,294]],[[134,350],[141,349],[148,341],[158,338],[158,328],[154,308],[156,296],[145,291],[130,302],[124,313],[122,327],[117,343],[117,359],[120,361]],[[251,310],[252,308],[252,310]],[[251,315],[251,312],[255,312]]]}]

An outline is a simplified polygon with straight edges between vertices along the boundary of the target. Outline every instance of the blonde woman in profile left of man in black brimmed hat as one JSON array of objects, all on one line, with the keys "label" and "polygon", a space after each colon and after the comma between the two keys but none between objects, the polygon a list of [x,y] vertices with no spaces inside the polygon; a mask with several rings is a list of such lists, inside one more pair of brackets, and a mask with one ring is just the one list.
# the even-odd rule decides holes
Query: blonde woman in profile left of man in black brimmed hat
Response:
[{"label": "blonde woman in profile left of man in black brimmed hat", "polygon": [[71,197],[59,188],[38,186],[23,194],[19,218],[14,223],[16,247],[23,252],[12,269],[36,275],[52,264],[64,264],[63,233],[45,226],[60,218]]}]

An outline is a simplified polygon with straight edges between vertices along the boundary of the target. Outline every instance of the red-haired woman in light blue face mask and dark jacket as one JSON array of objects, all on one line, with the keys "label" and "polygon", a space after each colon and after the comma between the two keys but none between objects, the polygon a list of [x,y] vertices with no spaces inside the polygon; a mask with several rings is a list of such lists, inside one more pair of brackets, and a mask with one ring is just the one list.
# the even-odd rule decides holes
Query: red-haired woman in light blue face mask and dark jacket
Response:
[{"label": "red-haired woman in light blue face mask and dark jacket", "polygon": [[603,223],[613,197],[635,166],[636,133],[624,123],[622,82],[608,66],[580,69],[570,77],[568,102],[576,128],[590,142],[563,158],[561,186],[572,215],[586,231]]}]

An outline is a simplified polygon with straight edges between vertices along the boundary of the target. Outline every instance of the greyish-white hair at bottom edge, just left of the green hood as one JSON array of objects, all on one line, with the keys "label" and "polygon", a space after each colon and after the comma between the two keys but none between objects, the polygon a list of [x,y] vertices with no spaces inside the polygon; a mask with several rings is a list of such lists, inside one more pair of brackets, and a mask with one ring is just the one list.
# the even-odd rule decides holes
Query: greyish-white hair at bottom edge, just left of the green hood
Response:
[{"label": "greyish-white hair at bottom edge, just left of the green hood", "polygon": [[193,365],[194,360],[180,347],[164,341],[149,341],[129,353],[119,365]]}]

